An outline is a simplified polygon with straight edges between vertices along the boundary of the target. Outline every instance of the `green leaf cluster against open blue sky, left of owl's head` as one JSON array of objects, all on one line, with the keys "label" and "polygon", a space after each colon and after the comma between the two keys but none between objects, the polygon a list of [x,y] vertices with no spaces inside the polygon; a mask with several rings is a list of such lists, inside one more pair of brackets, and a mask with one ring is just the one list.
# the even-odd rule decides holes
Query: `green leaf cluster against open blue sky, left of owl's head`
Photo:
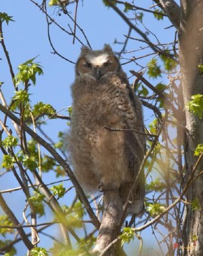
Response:
[{"label": "green leaf cluster against open blue sky, left of owl's head", "polygon": [[36,74],[39,76],[43,74],[43,70],[41,68],[41,65],[38,63],[33,63],[33,61],[36,59],[33,58],[31,60],[27,60],[25,63],[22,63],[19,65],[19,73],[15,76],[15,84],[27,83],[29,80],[33,82],[33,84],[36,83]]}]

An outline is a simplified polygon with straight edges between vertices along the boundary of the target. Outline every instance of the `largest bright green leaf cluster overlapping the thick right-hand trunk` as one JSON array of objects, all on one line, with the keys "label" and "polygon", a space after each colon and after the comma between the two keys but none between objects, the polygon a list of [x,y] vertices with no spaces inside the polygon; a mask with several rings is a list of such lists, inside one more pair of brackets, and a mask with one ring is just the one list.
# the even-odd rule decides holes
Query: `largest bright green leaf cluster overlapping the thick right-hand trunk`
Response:
[{"label": "largest bright green leaf cluster overlapping the thick right-hand trunk", "polygon": [[203,95],[195,94],[191,96],[191,100],[186,104],[186,108],[200,119],[203,117]]}]

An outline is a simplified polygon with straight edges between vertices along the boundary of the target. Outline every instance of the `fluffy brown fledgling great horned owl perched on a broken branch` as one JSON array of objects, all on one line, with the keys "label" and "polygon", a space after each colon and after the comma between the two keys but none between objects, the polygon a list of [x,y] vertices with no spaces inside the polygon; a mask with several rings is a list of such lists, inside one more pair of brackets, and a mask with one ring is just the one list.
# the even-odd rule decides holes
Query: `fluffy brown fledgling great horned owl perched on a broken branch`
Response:
[{"label": "fluffy brown fledgling great horned owl perched on a broken branch", "polygon": [[[124,204],[146,151],[146,136],[136,132],[144,132],[142,105],[109,45],[82,47],[75,72],[69,138],[75,174],[89,191],[119,188]],[[128,213],[143,213],[144,195],[142,172]]]}]

